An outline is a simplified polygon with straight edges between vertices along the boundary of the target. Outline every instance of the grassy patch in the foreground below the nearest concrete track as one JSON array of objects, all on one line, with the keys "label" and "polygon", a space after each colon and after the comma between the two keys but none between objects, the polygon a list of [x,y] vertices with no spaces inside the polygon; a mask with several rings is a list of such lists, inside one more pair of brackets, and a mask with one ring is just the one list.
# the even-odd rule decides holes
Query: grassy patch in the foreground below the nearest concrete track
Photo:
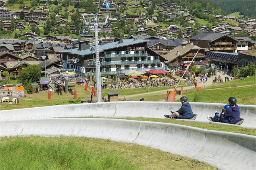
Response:
[{"label": "grassy patch in the foreground below the nearest concrete track", "polygon": [[0,169],[217,169],[150,147],[85,137],[0,138],[0,150]]}]

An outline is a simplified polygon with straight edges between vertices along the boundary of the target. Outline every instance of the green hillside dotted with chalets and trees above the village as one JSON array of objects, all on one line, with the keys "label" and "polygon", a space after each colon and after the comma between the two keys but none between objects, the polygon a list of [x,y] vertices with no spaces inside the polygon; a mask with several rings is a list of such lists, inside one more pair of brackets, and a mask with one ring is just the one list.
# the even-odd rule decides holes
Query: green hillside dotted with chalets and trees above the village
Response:
[{"label": "green hillside dotted with chalets and trees above the village", "polygon": [[[200,26],[203,25],[208,29],[225,22],[231,26],[237,26],[239,24],[235,19],[243,16],[239,12],[234,12],[230,14],[236,17],[232,20],[226,16],[225,19],[216,18],[216,15],[224,15],[227,11],[212,0],[113,0],[109,2],[110,8],[114,9],[112,11],[100,10],[104,7],[104,3],[97,0],[8,0],[3,8],[7,13],[11,12],[12,15],[17,14],[17,16],[14,17],[16,19],[1,18],[0,36],[21,38],[20,34],[30,31],[39,35],[38,37],[69,35],[71,38],[77,38],[82,31],[92,35],[92,30],[81,27],[81,14],[100,12],[110,14],[110,18],[114,18],[109,21],[108,27],[101,28],[100,37],[129,37],[144,34],[180,39],[198,34]],[[42,6],[46,9],[42,9]],[[41,12],[45,16],[39,15],[40,18],[38,18],[25,16],[24,13],[20,15],[19,12],[22,11],[27,12],[26,15]],[[31,20],[38,21],[36,26],[30,23]],[[64,20],[63,23],[59,23],[61,20]],[[19,28],[19,25],[22,28]],[[143,31],[139,30],[139,27]],[[218,32],[222,31],[218,30]]]}]

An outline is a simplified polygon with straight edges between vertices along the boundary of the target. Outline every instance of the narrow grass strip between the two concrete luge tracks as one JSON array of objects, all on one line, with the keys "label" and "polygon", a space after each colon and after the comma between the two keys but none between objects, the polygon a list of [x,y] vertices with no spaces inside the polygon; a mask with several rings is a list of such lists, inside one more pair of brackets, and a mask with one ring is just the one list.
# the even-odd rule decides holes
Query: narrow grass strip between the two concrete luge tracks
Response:
[{"label": "narrow grass strip between the two concrete luge tracks", "polygon": [[[164,117],[164,113],[163,113]],[[79,118],[102,118],[103,117],[79,117]],[[158,118],[146,118],[146,117],[122,117],[122,118],[113,118],[107,117],[107,119],[126,119],[126,120],[135,120],[135,121],[151,121],[151,122],[162,122],[162,123],[174,123],[178,125],[185,125],[191,127],[198,127],[202,129],[214,130],[214,131],[226,131],[226,132],[233,132],[233,133],[242,133],[246,135],[253,135],[256,136],[256,129],[249,129],[245,127],[239,126],[231,126],[231,125],[220,125],[216,123],[202,123],[202,122],[191,122],[191,121],[182,121],[176,119],[158,119]]]}]

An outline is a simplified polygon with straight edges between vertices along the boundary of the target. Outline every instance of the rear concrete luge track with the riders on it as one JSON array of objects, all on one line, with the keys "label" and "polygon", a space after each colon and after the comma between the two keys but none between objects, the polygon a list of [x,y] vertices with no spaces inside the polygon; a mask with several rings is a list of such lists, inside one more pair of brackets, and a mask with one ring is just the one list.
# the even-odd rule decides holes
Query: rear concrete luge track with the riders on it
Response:
[{"label": "rear concrete luge track with the riders on it", "polygon": [[[207,115],[220,112],[225,104],[190,102],[195,121],[209,122]],[[56,117],[149,117],[165,118],[164,114],[176,111],[180,102],[102,102],[86,104],[69,104],[28,109],[0,111],[0,120],[39,119]],[[256,106],[239,104],[241,118],[245,119],[243,127],[256,128]]]}]

